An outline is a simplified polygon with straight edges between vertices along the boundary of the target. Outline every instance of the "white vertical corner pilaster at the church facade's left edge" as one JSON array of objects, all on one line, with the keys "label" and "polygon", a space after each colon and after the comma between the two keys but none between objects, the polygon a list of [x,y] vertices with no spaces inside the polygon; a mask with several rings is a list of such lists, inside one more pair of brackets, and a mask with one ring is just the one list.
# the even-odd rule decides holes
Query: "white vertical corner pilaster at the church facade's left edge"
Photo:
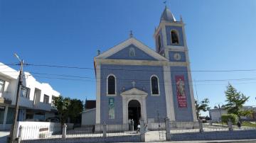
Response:
[{"label": "white vertical corner pilaster at the church facade's left edge", "polygon": [[100,64],[96,67],[96,124],[100,124]]}]

